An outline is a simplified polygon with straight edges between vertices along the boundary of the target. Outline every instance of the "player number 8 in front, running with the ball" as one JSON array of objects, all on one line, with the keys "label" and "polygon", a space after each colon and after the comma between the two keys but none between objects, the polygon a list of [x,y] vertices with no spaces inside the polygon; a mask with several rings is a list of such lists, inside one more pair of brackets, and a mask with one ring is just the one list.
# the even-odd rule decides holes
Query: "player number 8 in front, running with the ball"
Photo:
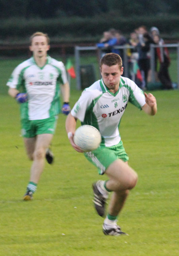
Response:
[{"label": "player number 8 in front, running with the ball", "polygon": [[128,165],[128,156],[119,133],[121,117],[128,102],[142,109],[148,115],[157,112],[156,98],[143,93],[130,79],[122,76],[122,59],[116,53],[108,53],[100,62],[102,79],[82,92],[66,119],[66,131],[72,147],[83,152],[73,141],[76,121],[96,127],[102,137],[98,149],[85,152],[100,175],[107,174],[109,180],[99,180],[93,184],[93,202],[97,213],[105,215],[105,202],[109,192],[113,192],[108,213],[103,223],[105,235],[126,235],[117,225],[117,217],[123,208],[129,190],[136,186],[138,176]]}]

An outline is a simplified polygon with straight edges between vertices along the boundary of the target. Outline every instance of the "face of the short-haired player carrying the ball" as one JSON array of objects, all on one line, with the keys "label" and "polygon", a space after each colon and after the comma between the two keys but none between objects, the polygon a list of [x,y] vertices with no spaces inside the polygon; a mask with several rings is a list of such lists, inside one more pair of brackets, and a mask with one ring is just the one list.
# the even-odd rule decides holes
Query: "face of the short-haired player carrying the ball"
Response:
[{"label": "face of the short-haired player carrying the ball", "polygon": [[101,66],[101,76],[105,86],[111,91],[117,92],[119,88],[120,78],[123,74],[123,67],[119,69],[119,65],[107,66],[103,64]]}]

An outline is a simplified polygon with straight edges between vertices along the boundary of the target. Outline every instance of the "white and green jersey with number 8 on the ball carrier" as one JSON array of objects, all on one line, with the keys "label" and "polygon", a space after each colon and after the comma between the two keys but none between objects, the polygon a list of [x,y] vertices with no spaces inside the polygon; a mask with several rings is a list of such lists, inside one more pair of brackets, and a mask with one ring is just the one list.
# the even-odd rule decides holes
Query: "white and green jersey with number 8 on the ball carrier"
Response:
[{"label": "white and green jersey with number 8 on the ball carrier", "polygon": [[121,76],[119,90],[113,94],[101,79],[82,92],[71,113],[82,125],[96,127],[102,144],[110,147],[121,141],[119,125],[128,102],[139,109],[146,103],[144,93],[132,80]]}]

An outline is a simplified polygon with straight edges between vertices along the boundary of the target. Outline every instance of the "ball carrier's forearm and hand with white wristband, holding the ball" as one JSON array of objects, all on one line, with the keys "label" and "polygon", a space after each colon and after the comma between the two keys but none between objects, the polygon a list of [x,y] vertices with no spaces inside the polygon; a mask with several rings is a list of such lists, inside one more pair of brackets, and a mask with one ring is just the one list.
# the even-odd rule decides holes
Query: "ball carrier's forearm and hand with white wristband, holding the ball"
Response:
[{"label": "ball carrier's forearm and hand with white wristband, holding the ball", "polygon": [[65,126],[66,126],[66,132],[68,134],[68,139],[72,145],[72,147],[82,153],[84,152],[83,150],[80,149],[80,147],[78,147],[74,141],[73,141],[73,137],[74,137],[74,133],[75,133],[75,130],[76,130],[76,121],[77,119],[75,119],[71,113],[69,113],[69,115],[67,116],[66,118],[66,123],[65,123]]}]

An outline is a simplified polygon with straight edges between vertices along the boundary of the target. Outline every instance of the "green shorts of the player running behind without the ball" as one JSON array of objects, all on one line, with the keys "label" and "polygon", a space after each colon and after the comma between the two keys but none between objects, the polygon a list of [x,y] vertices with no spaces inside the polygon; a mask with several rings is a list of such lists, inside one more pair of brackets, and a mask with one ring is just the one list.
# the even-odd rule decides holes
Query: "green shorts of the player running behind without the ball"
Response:
[{"label": "green shorts of the player running behind without the ball", "polygon": [[39,134],[54,134],[58,116],[41,120],[21,120],[21,134],[23,137],[31,138]]}]

